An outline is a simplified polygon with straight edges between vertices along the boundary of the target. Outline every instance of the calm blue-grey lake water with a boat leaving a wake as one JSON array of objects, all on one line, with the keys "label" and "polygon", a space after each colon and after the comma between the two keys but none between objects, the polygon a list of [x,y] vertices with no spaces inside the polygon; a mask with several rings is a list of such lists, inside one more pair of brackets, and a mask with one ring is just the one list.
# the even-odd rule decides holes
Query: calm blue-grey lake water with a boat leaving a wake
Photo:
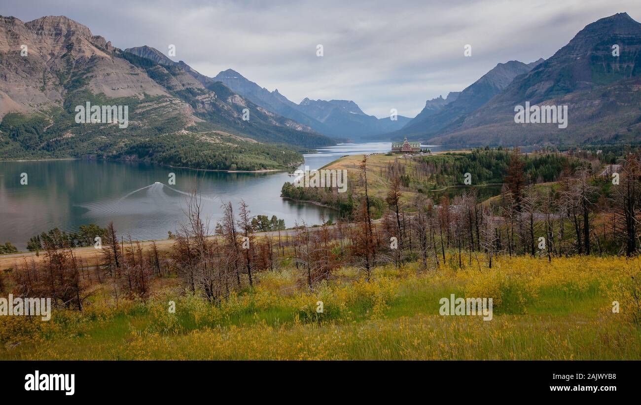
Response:
[{"label": "calm blue-grey lake water with a boat leaving a wake", "polygon": [[[390,142],[326,147],[305,154],[301,169],[319,169],[346,154],[381,153],[390,147]],[[167,184],[171,172],[175,185]],[[26,185],[21,185],[21,173],[28,176]],[[335,210],[282,199],[285,181],[293,181],[286,172],[205,172],[119,161],[0,161],[0,242],[24,250],[31,236],[53,227],[77,231],[83,224],[105,227],[110,221],[125,237],[167,238],[167,231],[175,232],[185,221],[186,199],[196,186],[210,233],[227,201],[237,209],[244,200],[252,215],[276,215],[288,227],[302,221],[320,224],[323,216],[335,219]]]}]

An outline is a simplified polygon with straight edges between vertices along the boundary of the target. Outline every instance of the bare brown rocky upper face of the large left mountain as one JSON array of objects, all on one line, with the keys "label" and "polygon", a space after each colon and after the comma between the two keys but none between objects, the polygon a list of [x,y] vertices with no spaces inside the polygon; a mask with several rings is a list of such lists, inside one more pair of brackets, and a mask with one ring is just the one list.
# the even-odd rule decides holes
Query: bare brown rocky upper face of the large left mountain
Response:
[{"label": "bare brown rocky upper face of the large left mountain", "polygon": [[115,51],[103,37],[67,17],[26,23],[0,17],[0,114],[60,106],[79,85],[106,97],[168,95],[144,71],[114,56]]}]

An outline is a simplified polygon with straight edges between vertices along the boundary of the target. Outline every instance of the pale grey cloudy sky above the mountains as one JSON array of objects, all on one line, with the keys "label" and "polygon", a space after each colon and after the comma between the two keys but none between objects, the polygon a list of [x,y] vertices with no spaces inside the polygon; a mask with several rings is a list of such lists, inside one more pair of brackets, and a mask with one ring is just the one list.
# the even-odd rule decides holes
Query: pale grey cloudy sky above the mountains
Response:
[{"label": "pale grey cloudy sky above the mountains", "polygon": [[[215,76],[234,69],[295,103],[351,99],[413,117],[499,62],[549,58],[584,26],[639,0],[136,1],[3,0],[31,21],[66,15],[121,49],[149,45]],[[317,45],[324,55],[316,56]],[[472,56],[463,47],[472,45]]]}]

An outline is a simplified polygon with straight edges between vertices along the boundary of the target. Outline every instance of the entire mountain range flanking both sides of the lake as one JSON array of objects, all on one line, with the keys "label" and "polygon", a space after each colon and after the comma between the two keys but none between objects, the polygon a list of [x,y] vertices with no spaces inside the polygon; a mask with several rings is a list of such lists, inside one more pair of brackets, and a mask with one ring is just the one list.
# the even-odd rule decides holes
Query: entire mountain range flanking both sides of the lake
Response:
[{"label": "entire mountain range flanking both sides of the lake", "polygon": [[[201,169],[292,166],[337,138],[431,144],[632,142],[641,135],[641,24],[588,24],[547,60],[509,61],[410,119],[354,101],[296,104],[228,69],[208,77],[143,45],[113,47],[63,16],[0,16],[0,158],[92,156]],[[76,106],[126,105],[129,125],[83,124]],[[515,122],[525,103],[567,106],[567,128]]]}]

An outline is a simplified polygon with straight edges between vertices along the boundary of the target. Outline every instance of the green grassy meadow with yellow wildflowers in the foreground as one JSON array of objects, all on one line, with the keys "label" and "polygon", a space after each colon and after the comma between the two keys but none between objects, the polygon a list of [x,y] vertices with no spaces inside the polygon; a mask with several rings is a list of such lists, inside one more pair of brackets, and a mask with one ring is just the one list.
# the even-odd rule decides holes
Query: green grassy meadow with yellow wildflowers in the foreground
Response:
[{"label": "green grassy meadow with yellow wildflowers in the foreground", "polygon": [[[118,297],[106,280],[83,313],[0,317],[0,358],[641,360],[640,258],[501,256],[492,269],[469,259],[378,267],[370,281],[342,268],[313,292],[286,264],[217,304],[172,277],[154,280],[147,301]],[[451,293],[493,297],[494,317],[439,315]]]}]

